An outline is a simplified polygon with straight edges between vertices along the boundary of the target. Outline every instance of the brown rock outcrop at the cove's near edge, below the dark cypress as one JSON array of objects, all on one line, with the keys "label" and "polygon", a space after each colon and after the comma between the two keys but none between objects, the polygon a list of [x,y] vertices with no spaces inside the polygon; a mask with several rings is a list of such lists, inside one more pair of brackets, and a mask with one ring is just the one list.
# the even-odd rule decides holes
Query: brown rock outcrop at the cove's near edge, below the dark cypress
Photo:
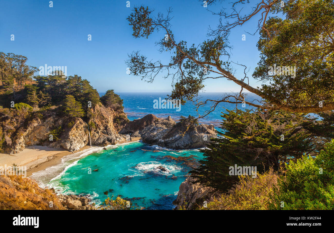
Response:
[{"label": "brown rock outcrop at the cove's near edge, below the dark cypress", "polygon": [[173,201],[173,204],[176,205],[175,209],[191,210],[202,206],[205,197],[214,192],[213,188],[202,186],[195,181],[194,178],[188,177],[180,184],[177,198]]}]

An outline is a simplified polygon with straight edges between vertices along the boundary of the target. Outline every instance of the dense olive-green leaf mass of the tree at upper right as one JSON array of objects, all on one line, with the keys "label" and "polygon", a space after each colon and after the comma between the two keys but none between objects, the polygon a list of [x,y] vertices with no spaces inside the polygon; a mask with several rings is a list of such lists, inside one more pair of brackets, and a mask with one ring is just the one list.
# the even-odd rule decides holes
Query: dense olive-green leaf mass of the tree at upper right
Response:
[{"label": "dense olive-green leaf mass of the tree at upper right", "polygon": [[[253,77],[269,81],[261,91],[269,101],[292,108],[333,103],[334,54],[331,46],[334,23],[332,0],[278,1],[260,32],[261,60]],[[283,14],[284,17],[279,15]],[[268,74],[268,67],[296,66],[296,77]],[[332,108],[331,108],[332,109]]]}]

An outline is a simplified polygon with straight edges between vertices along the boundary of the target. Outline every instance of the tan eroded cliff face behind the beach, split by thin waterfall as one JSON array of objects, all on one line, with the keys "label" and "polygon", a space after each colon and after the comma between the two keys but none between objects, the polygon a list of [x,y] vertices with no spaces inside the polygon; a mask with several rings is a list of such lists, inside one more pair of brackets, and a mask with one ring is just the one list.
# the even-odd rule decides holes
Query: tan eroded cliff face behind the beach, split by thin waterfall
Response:
[{"label": "tan eroded cliff face behind the beach, split by thin waterfall", "polygon": [[[56,112],[56,109],[50,109],[42,115],[34,114],[21,121],[17,117],[2,116],[3,128],[10,129],[4,130],[7,138],[5,152],[16,154],[26,146],[33,145],[75,151],[89,145],[87,123],[81,118],[59,116]],[[106,146],[121,140],[118,131],[125,125],[127,117],[123,111],[115,112],[109,107],[96,105],[91,108],[87,121],[90,125],[92,145]]]}]

